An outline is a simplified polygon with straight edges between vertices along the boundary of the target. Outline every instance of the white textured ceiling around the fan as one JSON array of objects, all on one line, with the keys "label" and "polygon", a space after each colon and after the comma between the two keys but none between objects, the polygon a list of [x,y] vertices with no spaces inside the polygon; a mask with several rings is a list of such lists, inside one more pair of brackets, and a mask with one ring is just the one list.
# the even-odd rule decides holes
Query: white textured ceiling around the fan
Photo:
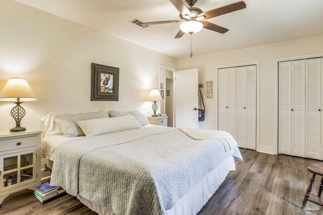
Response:
[{"label": "white textured ceiling around the fan", "polygon": [[[190,36],[174,39],[179,25],[142,29],[129,21],[177,20],[168,0],[16,0],[17,2],[112,34],[141,46],[183,58],[190,56]],[[185,0],[183,0],[185,1]],[[203,11],[238,0],[198,0]],[[323,0],[245,0],[247,8],[208,21],[230,29],[219,34],[206,29],[193,35],[193,54],[201,55],[323,34]]]}]

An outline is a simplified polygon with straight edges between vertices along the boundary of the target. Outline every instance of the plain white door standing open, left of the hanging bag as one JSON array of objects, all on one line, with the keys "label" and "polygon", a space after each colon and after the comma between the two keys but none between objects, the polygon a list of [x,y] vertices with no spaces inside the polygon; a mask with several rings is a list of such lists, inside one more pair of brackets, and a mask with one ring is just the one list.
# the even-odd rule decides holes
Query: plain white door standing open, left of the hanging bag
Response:
[{"label": "plain white door standing open, left of the hanging bag", "polygon": [[175,73],[176,127],[198,128],[198,69]]}]

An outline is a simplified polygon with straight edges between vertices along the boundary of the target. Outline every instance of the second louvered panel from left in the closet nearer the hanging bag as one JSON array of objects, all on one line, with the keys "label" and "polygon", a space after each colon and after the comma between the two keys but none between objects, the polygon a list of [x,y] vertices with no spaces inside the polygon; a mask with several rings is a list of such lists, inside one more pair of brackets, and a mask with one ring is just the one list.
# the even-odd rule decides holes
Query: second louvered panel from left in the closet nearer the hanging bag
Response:
[{"label": "second louvered panel from left in the closet nearer the hanging bag", "polygon": [[228,68],[228,118],[227,131],[236,138],[236,67]]}]

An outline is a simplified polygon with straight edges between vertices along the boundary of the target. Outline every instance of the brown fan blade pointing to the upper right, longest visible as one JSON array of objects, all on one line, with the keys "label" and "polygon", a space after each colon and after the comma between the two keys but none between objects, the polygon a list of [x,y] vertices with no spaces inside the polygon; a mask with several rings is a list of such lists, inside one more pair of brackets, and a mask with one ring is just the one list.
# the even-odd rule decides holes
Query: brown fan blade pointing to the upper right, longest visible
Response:
[{"label": "brown fan blade pointing to the upper right, longest visible", "polygon": [[199,17],[204,16],[205,19],[210,19],[213,17],[218,17],[218,16],[221,16],[224,14],[228,14],[228,13],[231,13],[234,11],[239,11],[241,9],[245,9],[246,7],[247,7],[246,3],[243,1],[240,1],[240,2],[230,4],[230,5],[223,6],[221,8],[217,8],[217,9],[203,12],[199,15]]}]

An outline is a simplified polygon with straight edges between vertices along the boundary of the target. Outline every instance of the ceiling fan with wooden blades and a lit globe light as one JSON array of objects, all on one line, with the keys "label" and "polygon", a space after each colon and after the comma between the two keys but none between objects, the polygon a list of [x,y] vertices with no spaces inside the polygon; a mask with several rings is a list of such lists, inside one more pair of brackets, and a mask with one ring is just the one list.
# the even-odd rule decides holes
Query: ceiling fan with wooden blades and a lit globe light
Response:
[{"label": "ceiling fan with wooden blades and a lit globe light", "polygon": [[193,34],[193,33],[199,32],[200,30],[202,30],[202,28],[224,34],[227,31],[229,31],[229,29],[204,20],[207,20],[213,17],[218,17],[224,14],[228,14],[228,13],[246,8],[246,4],[243,1],[240,1],[230,5],[226,5],[221,8],[203,12],[201,9],[193,7],[197,2],[197,0],[186,0],[186,3],[188,4],[189,8],[186,7],[186,5],[182,2],[182,0],[170,0],[170,2],[180,12],[181,20],[147,22],[147,23],[141,23],[141,25],[182,23],[180,25],[181,29],[177,33],[175,38],[181,38],[185,33]]}]

